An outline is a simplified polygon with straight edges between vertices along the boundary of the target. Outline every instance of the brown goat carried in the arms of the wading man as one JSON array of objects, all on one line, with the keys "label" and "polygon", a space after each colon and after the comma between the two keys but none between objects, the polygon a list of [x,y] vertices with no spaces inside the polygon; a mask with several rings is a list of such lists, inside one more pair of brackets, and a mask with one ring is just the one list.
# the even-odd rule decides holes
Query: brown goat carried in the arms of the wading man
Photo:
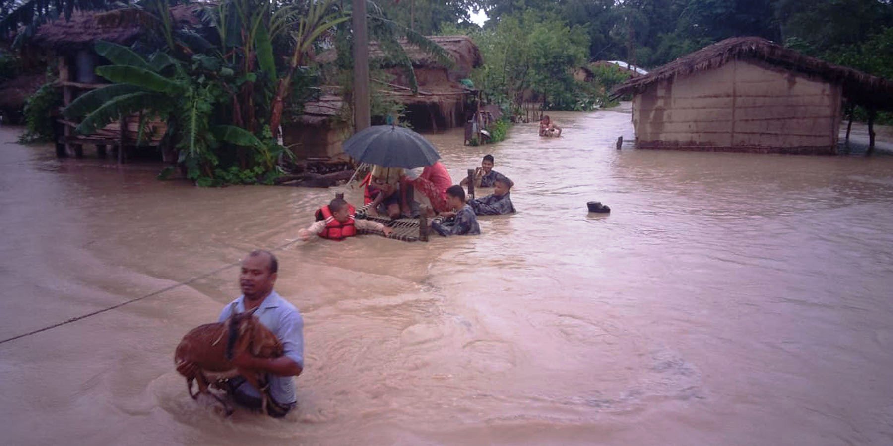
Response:
[{"label": "brown goat carried in the arms of the wading man", "polygon": [[[257,309],[255,309],[257,310]],[[196,326],[183,336],[174,353],[173,362],[179,367],[191,362],[198,368],[196,376],[186,376],[186,386],[193,400],[199,393],[207,393],[220,401],[226,415],[232,414],[227,402],[208,390],[208,385],[220,383],[233,376],[245,376],[249,384],[261,390],[263,412],[267,411],[267,392],[263,383],[263,374],[255,370],[239,369],[232,364],[232,359],[247,351],[258,358],[279,358],[283,348],[276,335],[254,317],[255,310],[235,313],[230,318],[214,324]],[[198,392],[192,392],[192,382],[198,383]]]}]

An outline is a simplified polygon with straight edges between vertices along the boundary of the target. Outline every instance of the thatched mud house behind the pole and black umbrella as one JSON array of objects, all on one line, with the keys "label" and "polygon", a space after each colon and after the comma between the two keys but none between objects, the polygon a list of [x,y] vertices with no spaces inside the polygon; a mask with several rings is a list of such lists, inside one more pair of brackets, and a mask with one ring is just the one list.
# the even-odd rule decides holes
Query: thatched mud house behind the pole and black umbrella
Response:
[{"label": "thatched mud house behind the pole and black umbrella", "polygon": [[[372,88],[388,95],[406,106],[406,119],[417,130],[438,130],[456,128],[464,125],[467,115],[466,99],[475,92],[460,82],[472,74],[472,69],[483,64],[480,50],[467,36],[432,36],[428,37],[449,54],[453,66],[447,67],[417,46],[400,42],[413,62],[415,78],[419,85],[418,93],[413,93],[405,70],[390,62],[385,63],[385,70],[392,77],[373,79]],[[370,42],[369,57],[371,60],[384,58],[378,42]],[[338,54],[334,49],[319,54],[316,62],[321,64],[335,62]],[[386,83],[387,82],[387,83]],[[472,110],[473,111],[473,110]]]}]

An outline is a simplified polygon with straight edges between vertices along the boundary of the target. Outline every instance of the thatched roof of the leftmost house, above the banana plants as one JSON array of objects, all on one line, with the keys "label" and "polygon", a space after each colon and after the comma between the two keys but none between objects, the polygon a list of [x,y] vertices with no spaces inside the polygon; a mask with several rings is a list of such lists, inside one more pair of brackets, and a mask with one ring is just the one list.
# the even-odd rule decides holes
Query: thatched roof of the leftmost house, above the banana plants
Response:
[{"label": "thatched roof of the leftmost house, above the banana plants", "polygon": [[[175,28],[199,26],[196,16],[200,5],[179,5],[171,8]],[[75,11],[71,20],[59,18],[38,28],[30,43],[56,51],[91,48],[104,40],[130,45],[146,32],[146,12],[138,8],[125,8],[108,12]]]}]

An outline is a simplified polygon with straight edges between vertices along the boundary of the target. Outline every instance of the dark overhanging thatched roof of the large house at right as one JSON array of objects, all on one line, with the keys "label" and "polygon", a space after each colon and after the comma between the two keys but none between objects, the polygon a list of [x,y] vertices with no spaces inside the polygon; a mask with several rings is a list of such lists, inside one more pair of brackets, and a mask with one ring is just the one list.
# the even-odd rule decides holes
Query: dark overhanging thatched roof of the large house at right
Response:
[{"label": "dark overhanging thatched roof of the large house at right", "polygon": [[613,95],[642,93],[655,82],[713,70],[732,60],[754,62],[770,70],[793,71],[808,78],[839,84],[844,96],[855,103],[878,109],[893,108],[893,82],[797,53],[761,37],[732,37],[706,46],[651,71],[647,76],[631,78],[615,88]]}]

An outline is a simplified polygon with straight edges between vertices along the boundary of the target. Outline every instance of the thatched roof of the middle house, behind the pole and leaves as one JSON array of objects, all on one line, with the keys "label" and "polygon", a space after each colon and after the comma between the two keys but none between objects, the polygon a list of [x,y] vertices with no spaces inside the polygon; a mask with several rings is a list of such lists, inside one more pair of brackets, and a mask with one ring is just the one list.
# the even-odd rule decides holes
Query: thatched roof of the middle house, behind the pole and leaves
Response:
[{"label": "thatched roof of the middle house, behind the pole and leaves", "polygon": [[[455,62],[453,70],[468,76],[472,69],[478,68],[484,63],[484,58],[480,55],[478,45],[474,45],[471,37],[468,36],[429,36],[430,40],[442,46]],[[413,61],[415,67],[440,67],[437,60],[430,56],[416,45],[407,42],[405,39],[400,40],[402,45]],[[372,41],[369,43],[369,57],[371,59],[384,58],[385,54],[381,51],[379,43]],[[316,62],[331,63],[335,62],[338,54],[334,49],[330,49],[316,56]]]}]

